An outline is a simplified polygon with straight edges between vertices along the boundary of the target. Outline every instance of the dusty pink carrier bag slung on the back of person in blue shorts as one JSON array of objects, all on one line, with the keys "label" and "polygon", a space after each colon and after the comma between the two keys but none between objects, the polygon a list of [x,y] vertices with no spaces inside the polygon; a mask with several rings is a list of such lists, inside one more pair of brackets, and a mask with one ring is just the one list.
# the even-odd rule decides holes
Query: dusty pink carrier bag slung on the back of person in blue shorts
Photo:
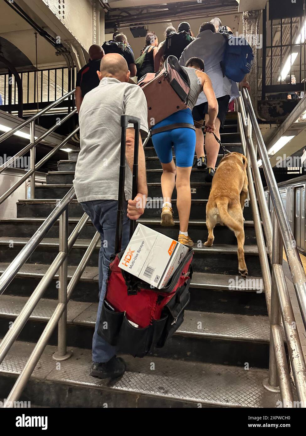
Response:
[{"label": "dusty pink carrier bag slung on the back of person in blue shorts", "polygon": [[161,72],[141,77],[138,85],[147,99],[149,126],[187,107],[190,80],[175,56],[168,56]]}]

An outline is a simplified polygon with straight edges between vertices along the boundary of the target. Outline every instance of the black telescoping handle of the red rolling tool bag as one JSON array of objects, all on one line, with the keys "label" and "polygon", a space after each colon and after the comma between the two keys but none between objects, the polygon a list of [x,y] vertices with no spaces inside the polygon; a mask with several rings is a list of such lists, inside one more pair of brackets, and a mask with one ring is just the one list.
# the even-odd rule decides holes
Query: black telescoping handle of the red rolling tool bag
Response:
[{"label": "black telescoping handle of the red rolling tool bag", "polygon": [[[138,183],[138,146],[139,146],[139,130],[140,130],[140,118],[121,115],[121,148],[120,148],[120,170],[119,170],[119,190],[118,190],[118,209],[117,209],[117,223],[116,223],[116,237],[115,237],[115,254],[121,250],[122,241],[122,228],[123,228],[123,204],[124,204],[124,183],[125,183],[125,141],[126,130],[128,124],[133,124],[135,129],[134,140],[134,162],[133,162],[133,182],[132,182],[132,200],[137,194]],[[130,239],[136,228],[136,221],[131,220],[130,225]]]}]

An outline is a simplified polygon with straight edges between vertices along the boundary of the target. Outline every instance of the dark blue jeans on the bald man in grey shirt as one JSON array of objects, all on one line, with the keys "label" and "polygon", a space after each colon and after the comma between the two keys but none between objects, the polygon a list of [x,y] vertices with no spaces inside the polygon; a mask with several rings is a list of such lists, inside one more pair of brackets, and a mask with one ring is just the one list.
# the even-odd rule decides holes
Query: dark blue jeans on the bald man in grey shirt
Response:
[{"label": "dark blue jeans on the bald man in grey shirt", "polygon": [[[116,354],[117,348],[104,341],[104,339],[98,335],[97,330],[106,292],[106,280],[110,265],[110,257],[114,254],[118,201],[84,201],[81,205],[101,235],[101,248],[99,252],[99,305],[95,332],[93,334],[93,362],[108,362]],[[124,203],[124,210],[126,209],[127,202]],[[126,249],[129,242],[129,232],[130,220],[124,213],[121,243],[122,250]]]}]

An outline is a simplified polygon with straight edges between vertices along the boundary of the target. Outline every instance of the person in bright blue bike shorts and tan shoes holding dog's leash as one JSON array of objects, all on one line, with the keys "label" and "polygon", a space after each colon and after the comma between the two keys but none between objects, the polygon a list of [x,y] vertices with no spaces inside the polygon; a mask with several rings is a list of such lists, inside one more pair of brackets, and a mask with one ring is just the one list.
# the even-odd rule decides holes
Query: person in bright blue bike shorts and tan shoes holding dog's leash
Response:
[{"label": "person in bright blue bike shorts and tan shoes holding dog's leash", "polygon": [[[192,109],[199,94],[203,91],[208,101],[209,119],[206,122],[206,131],[213,133],[215,119],[218,113],[218,103],[213,92],[210,78],[204,73],[204,62],[200,58],[190,58],[185,67],[182,67],[190,79],[190,92],[187,109],[173,113],[151,129],[152,142],[157,156],[162,164],[162,226],[173,226],[172,193],[176,187],[176,207],[179,212],[179,242],[192,247],[193,240],[188,235],[188,223],[191,208],[190,174],[193,167],[196,148],[196,133],[193,125]],[[171,129],[171,125],[175,128]],[[178,126],[184,124],[185,126]],[[186,126],[188,125],[188,126]],[[155,129],[169,126],[165,131],[155,133]],[[174,147],[175,163],[172,156]]]}]

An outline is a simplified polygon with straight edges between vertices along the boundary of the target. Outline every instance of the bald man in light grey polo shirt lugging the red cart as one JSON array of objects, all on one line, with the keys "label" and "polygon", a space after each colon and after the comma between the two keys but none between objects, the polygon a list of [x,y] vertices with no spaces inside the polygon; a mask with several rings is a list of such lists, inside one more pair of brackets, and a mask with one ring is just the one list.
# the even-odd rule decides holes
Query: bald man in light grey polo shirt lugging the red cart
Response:
[{"label": "bald man in light grey polo shirt lugging the red cart", "polygon": [[[117,53],[106,54],[97,72],[100,84],[89,91],[79,112],[80,146],[73,181],[76,197],[93,225],[100,232],[99,290],[96,327],[93,335],[93,364],[90,375],[98,378],[119,377],[125,363],[117,358],[116,348],[97,333],[110,257],[114,253],[116,234],[119,165],[120,165],[120,116],[140,118],[141,133],[148,135],[148,109],[142,89],[128,83],[130,72],[125,59]],[[144,213],[147,197],[144,150],[139,138],[138,194],[132,195],[132,168],[134,157],[134,129],[128,125],[126,132],[125,204],[122,245],[129,241],[130,220],[137,220]],[[144,202],[143,202],[144,201]]]}]

